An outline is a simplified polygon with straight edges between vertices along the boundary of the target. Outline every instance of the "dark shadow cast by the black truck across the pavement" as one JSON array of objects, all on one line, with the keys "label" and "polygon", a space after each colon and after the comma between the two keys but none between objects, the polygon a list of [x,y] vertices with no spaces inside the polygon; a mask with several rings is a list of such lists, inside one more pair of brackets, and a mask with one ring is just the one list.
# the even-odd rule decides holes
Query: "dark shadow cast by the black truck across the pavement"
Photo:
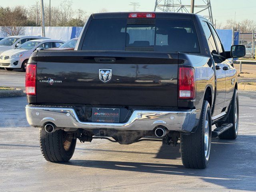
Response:
[{"label": "dark shadow cast by the black truck across the pavement", "polygon": [[[236,140],[213,139],[210,165],[204,170],[186,169],[180,164],[108,160],[70,160],[64,164],[108,170],[192,176],[227,189],[255,191],[255,141],[256,136],[246,135],[238,136]],[[250,147],[248,148],[248,146]],[[112,150],[106,151],[111,152]],[[162,146],[154,158],[179,159],[179,147]]]}]

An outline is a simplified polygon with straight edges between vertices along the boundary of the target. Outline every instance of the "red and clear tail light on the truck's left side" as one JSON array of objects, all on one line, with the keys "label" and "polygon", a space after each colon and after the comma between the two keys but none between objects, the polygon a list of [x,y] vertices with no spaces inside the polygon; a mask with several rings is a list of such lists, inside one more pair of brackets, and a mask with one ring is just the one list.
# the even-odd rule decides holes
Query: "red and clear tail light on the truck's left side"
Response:
[{"label": "red and clear tail light on the truck's left side", "polygon": [[27,95],[36,95],[36,64],[27,65],[26,93]]}]

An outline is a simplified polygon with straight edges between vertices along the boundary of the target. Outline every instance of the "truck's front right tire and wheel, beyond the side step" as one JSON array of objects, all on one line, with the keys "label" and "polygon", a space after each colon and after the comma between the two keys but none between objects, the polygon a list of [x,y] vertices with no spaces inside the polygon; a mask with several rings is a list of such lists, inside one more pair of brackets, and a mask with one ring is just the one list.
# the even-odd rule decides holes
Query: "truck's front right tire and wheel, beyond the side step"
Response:
[{"label": "truck's front right tire and wheel, beyond the side step", "polygon": [[[223,123],[232,123],[233,127],[226,130],[224,133],[219,135],[220,139],[236,139],[238,135],[238,122],[239,122],[239,100],[238,91],[234,90],[234,95],[231,101],[230,113],[228,118]],[[221,125],[220,125],[221,126]]]}]

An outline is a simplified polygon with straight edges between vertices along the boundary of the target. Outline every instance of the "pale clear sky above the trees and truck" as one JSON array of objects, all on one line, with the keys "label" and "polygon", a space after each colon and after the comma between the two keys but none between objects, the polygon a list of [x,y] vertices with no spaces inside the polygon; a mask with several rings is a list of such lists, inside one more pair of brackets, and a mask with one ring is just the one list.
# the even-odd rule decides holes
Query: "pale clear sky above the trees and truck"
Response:
[{"label": "pale clear sky above the trees and truck", "polygon": [[[40,0],[37,0],[40,3]],[[62,0],[51,0],[52,6],[58,6]],[[105,8],[108,12],[130,11],[133,9],[130,2],[138,2],[138,11],[153,11],[155,0],[72,0],[72,9],[82,9],[88,14],[99,12]],[[176,2],[178,2],[176,0]],[[181,0],[182,4],[190,4],[191,0]],[[0,6],[30,6],[36,4],[36,0],[0,0]],[[44,4],[49,4],[49,0],[44,0]],[[202,0],[195,0],[195,4],[203,4]],[[236,21],[244,19],[256,21],[256,0],[211,0],[212,15],[216,22],[225,23],[227,19]],[[204,15],[204,14],[202,14]]]}]

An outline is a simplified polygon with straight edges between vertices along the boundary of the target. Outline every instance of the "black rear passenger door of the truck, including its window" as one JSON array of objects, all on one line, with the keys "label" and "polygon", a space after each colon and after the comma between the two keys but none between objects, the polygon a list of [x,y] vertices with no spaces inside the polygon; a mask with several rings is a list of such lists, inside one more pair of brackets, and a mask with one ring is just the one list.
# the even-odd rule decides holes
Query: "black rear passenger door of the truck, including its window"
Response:
[{"label": "black rear passenger door of the truck, including its window", "polygon": [[222,112],[224,101],[225,101],[225,94],[226,94],[226,75],[225,71],[223,70],[224,64],[222,57],[218,54],[218,49],[216,43],[214,41],[214,36],[208,26],[207,21],[202,21],[202,27],[204,30],[204,34],[206,36],[210,52],[212,54],[212,58],[214,60],[214,67],[216,69],[216,96],[215,96],[215,106],[213,116],[216,116]]}]

